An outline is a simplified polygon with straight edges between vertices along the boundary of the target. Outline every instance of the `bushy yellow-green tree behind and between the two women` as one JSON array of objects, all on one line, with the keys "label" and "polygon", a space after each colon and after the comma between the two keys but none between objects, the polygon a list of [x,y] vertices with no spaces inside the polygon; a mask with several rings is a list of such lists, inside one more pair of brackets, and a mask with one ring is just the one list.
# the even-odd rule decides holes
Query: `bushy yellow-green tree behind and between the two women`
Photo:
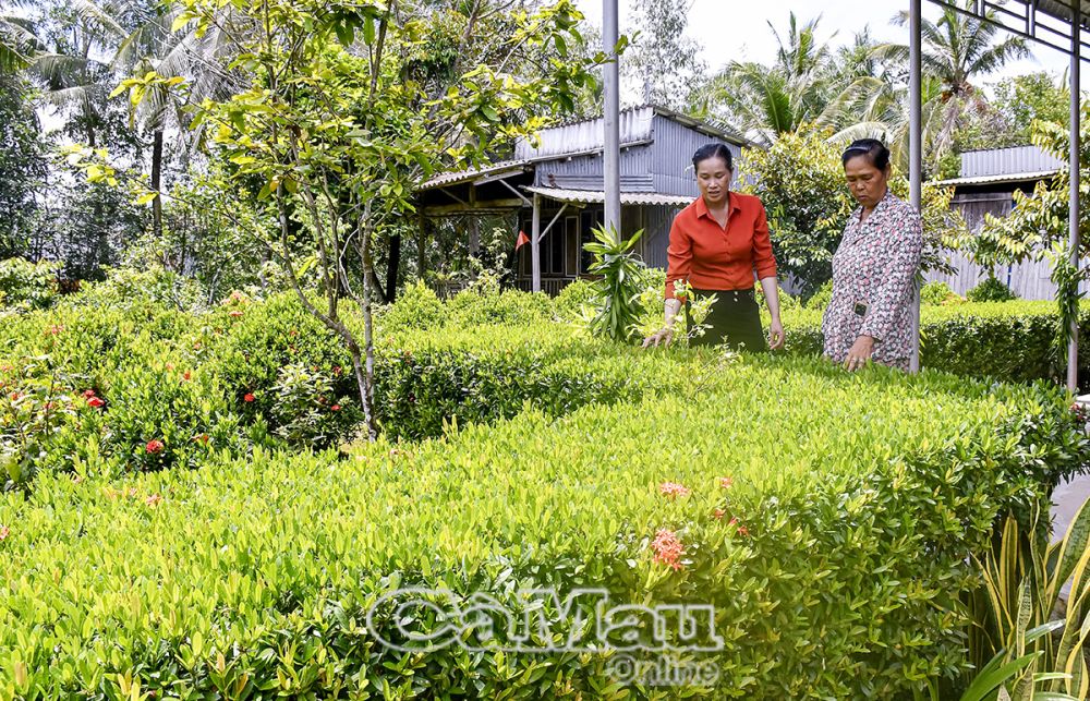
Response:
[{"label": "bushy yellow-green tree behind and between the two women", "polygon": [[[844,225],[858,206],[844,181],[839,149],[828,129],[804,125],[782,134],[767,149],[747,152],[739,168],[744,190],[761,197],[768,213],[773,252],[780,275],[791,276],[803,298],[833,277],[833,254]],[[894,194],[907,198],[908,182],[894,174]],[[952,211],[953,191],[925,188],[921,216],[925,239],[924,269],[948,269],[942,251],[967,235],[965,220]]]}]

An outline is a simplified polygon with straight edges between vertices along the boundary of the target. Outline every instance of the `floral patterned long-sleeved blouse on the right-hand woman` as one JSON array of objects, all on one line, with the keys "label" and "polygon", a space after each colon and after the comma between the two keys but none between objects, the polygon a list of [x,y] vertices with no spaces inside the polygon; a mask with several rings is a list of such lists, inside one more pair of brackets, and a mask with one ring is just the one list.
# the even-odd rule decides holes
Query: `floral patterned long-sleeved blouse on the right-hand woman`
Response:
[{"label": "floral patterned long-sleeved blouse on the right-hand woman", "polygon": [[[923,249],[920,215],[888,190],[860,222],[856,209],[833,256],[833,299],[822,316],[825,355],[844,362],[859,336],[874,338],[874,362],[908,370],[912,290]],[[859,304],[865,305],[860,315]]]}]

